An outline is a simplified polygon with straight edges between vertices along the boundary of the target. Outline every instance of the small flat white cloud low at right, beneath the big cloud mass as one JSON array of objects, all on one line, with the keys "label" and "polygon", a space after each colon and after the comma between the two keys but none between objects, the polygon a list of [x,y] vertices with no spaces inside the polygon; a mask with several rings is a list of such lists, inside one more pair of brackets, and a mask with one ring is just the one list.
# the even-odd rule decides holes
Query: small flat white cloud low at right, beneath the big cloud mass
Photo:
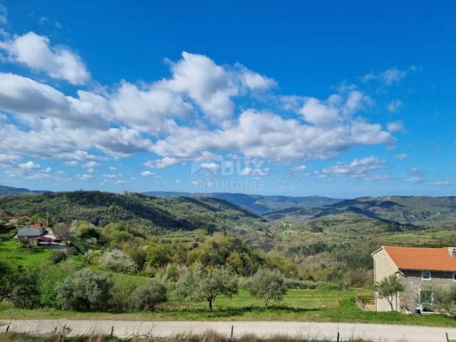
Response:
[{"label": "small flat white cloud low at right, beneath the big cloud mass", "polygon": [[338,162],[335,166],[323,169],[323,175],[350,176],[361,180],[383,180],[388,175],[372,174],[371,172],[386,167],[386,160],[379,157],[354,159],[350,163]]}]

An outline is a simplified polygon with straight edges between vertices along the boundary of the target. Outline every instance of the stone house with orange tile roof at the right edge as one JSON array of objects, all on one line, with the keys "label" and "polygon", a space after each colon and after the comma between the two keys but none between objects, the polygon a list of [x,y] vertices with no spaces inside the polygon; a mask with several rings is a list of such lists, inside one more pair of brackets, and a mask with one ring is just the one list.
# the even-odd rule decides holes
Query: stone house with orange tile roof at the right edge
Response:
[{"label": "stone house with orange tile roof at the right edge", "polygon": [[[398,276],[405,291],[393,299],[395,311],[410,312],[430,306],[432,289],[456,284],[456,248],[383,246],[372,254],[374,283],[391,274]],[[375,292],[375,310],[390,311],[390,304]]]}]

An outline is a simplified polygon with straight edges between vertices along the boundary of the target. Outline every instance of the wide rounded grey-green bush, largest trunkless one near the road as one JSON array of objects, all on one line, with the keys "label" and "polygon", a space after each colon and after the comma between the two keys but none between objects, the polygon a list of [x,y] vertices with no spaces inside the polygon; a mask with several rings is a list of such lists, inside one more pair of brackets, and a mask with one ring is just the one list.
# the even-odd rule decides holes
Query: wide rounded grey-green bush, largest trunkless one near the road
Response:
[{"label": "wide rounded grey-green bush, largest trunkless one near the road", "polygon": [[112,288],[110,276],[81,269],[58,286],[57,304],[64,310],[103,310],[108,307]]}]

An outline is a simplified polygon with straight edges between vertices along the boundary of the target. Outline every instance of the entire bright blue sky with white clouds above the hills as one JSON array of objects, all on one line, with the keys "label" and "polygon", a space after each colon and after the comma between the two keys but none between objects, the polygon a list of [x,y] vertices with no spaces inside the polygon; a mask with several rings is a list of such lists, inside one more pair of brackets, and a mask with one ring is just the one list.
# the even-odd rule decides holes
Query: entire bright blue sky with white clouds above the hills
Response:
[{"label": "entire bright blue sky with white clouds above the hills", "polygon": [[455,195],[454,1],[0,4],[0,185]]}]

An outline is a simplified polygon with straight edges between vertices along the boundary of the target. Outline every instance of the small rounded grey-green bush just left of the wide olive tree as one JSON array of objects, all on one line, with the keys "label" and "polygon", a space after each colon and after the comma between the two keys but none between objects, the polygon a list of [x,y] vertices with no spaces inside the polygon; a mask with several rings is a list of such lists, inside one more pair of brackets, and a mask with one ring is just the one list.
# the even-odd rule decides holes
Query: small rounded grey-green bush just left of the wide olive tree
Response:
[{"label": "small rounded grey-green bush just left of the wide olive tree", "polygon": [[150,310],[167,300],[165,286],[155,279],[150,279],[146,284],[139,286],[130,296],[131,305],[136,310]]}]

